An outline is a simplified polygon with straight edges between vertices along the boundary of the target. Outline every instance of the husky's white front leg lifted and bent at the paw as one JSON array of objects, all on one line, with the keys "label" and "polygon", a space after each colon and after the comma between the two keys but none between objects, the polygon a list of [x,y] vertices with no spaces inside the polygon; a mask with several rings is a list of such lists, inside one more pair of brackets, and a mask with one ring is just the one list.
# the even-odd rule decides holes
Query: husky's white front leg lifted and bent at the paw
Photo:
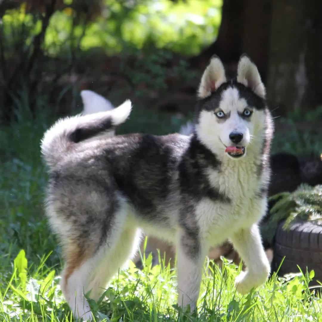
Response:
[{"label": "husky's white front leg lifted and bent at the paw", "polygon": [[246,264],[246,271],[237,276],[235,286],[239,293],[246,294],[253,287],[267,280],[270,275],[270,263],[266,257],[257,224],[237,231],[231,240]]}]

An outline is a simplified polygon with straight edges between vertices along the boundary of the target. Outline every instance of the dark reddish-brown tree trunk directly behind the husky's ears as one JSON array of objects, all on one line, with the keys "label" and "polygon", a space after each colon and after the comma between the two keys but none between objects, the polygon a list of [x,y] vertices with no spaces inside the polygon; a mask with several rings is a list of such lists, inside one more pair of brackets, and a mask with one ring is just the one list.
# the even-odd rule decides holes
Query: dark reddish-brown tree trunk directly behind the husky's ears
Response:
[{"label": "dark reddish-brown tree trunk directly behind the husky's ears", "polygon": [[226,67],[228,77],[235,76],[237,62],[246,53],[258,66],[265,81],[267,72],[271,0],[224,0],[218,37],[190,62],[204,69],[213,54]]}]

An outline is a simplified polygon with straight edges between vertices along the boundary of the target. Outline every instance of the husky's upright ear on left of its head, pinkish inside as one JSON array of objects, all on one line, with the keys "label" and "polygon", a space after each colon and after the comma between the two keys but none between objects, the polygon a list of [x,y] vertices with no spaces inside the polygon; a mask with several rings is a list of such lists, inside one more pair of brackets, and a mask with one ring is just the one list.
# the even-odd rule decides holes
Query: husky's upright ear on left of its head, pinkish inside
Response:
[{"label": "husky's upright ear on left of its head, pinkish inside", "polygon": [[198,97],[204,99],[226,81],[225,69],[219,57],[214,56],[202,75]]}]

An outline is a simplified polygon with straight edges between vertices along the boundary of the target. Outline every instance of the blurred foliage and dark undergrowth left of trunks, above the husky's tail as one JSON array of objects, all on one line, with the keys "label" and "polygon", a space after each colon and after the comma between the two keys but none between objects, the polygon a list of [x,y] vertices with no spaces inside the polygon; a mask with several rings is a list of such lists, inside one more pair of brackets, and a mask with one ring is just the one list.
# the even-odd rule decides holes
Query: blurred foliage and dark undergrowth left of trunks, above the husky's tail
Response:
[{"label": "blurred foliage and dark undergrowth left of trunks, above the husky's tail", "polygon": [[23,92],[33,113],[43,98],[57,114],[77,109],[85,88],[155,109],[180,86],[191,92],[197,76],[186,57],[214,41],[221,7],[222,0],[0,3],[0,121],[14,117]]}]

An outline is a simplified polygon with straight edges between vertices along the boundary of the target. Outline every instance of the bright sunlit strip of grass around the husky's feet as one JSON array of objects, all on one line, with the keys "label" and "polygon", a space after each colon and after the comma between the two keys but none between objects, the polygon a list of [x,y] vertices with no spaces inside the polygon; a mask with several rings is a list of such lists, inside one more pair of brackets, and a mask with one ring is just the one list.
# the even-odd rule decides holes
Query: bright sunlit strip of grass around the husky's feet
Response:
[{"label": "bright sunlit strip of grass around the husky's feet", "polygon": [[[60,277],[46,265],[47,257],[36,266],[27,263],[23,250],[19,252],[0,288],[1,321],[72,320]],[[151,255],[143,270],[130,262],[98,302],[90,300],[96,321],[320,321],[322,317],[322,298],[308,286],[313,272],[293,278],[273,274],[264,286],[241,296],[233,283],[241,267],[224,259],[222,269],[206,262],[198,313],[191,314],[176,305],[175,270],[151,263]]]}]

